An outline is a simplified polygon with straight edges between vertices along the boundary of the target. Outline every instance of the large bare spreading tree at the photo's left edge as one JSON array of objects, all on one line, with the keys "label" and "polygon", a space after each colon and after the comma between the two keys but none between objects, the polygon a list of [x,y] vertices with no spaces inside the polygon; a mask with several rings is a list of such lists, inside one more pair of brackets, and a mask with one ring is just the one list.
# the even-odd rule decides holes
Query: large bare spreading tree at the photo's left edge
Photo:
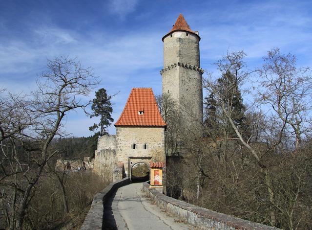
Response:
[{"label": "large bare spreading tree at the photo's left edge", "polygon": [[83,97],[96,84],[92,69],[83,68],[76,59],[56,57],[47,61],[47,71],[38,78],[36,91],[23,98],[1,98],[9,101],[0,110],[0,184],[1,209],[10,229],[31,226],[27,218],[30,201],[47,162],[58,152],[50,149],[50,143],[63,135],[62,120],[70,111],[85,111],[90,101]]}]

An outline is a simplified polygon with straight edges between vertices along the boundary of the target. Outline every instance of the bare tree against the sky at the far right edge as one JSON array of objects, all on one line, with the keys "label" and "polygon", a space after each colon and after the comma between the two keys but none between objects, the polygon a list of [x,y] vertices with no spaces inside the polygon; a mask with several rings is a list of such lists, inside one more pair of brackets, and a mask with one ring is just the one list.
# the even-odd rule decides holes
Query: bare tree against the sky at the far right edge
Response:
[{"label": "bare tree against the sky at the far right edge", "polygon": [[265,64],[258,69],[261,90],[259,101],[269,105],[278,117],[286,123],[285,129],[295,136],[297,150],[303,135],[310,129],[312,81],[310,68],[297,68],[296,57],[284,55],[278,48],[268,51]]}]

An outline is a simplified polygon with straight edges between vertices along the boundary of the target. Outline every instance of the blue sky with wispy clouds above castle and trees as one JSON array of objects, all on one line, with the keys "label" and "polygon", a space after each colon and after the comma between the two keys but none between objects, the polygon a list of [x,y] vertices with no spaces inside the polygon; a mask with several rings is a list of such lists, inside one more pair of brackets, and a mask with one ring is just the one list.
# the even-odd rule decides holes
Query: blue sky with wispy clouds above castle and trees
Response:
[{"label": "blue sky with wispy clouds above castle and trees", "polygon": [[[161,93],[161,39],[180,13],[199,31],[203,69],[242,49],[250,67],[260,66],[272,47],[312,66],[311,0],[0,0],[0,88],[28,92],[48,58],[77,56],[102,80],[98,88],[119,92],[117,121],[133,87]],[[94,121],[71,113],[65,129],[89,136]]]}]

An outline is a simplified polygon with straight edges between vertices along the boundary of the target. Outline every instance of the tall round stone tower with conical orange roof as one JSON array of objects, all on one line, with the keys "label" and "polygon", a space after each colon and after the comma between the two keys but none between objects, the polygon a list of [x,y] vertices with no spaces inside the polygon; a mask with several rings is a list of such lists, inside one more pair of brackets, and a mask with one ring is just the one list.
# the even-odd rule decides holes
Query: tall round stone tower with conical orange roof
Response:
[{"label": "tall round stone tower with conical orange roof", "polygon": [[163,94],[169,93],[181,113],[181,127],[201,132],[203,122],[202,74],[199,59],[200,37],[182,14],[163,37]]}]

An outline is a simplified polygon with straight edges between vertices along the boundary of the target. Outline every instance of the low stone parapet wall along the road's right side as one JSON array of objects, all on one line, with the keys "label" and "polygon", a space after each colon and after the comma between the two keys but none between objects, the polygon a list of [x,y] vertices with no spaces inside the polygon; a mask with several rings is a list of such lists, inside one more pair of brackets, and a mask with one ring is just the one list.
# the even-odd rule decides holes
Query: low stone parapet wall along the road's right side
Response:
[{"label": "low stone parapet wall along the road's right side", "polygon": [[156,202],[157,206],[174,214],[178,218],[200,229],[209,230],[278,230],[277,228],[257,224],[237,217],[229,216],[209,209],[198,207],[168,197],[154,188],[149,188],[148,183],[143,183],[146,194]]}]

